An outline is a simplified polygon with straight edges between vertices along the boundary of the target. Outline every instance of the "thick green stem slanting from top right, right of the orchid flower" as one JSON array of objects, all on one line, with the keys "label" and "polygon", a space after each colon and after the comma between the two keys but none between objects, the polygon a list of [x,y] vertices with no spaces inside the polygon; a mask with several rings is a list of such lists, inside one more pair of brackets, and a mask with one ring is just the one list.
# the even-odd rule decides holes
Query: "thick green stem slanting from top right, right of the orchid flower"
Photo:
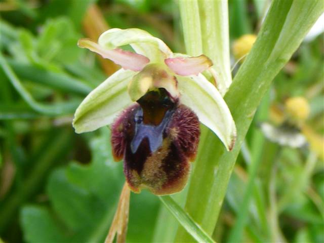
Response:
[{"label": "thick green stem slanting from top right, right of the orchid flower", "polygon": [[[210,132],[191,178],[186,210],[207,233],[214,230],[236,157],[262,97],[322,11],[321,1],[272,2],[251,53],[225,95],[237,128],[236,144],[227,152]],[[180,231],[177,241],[193,239]]]}]

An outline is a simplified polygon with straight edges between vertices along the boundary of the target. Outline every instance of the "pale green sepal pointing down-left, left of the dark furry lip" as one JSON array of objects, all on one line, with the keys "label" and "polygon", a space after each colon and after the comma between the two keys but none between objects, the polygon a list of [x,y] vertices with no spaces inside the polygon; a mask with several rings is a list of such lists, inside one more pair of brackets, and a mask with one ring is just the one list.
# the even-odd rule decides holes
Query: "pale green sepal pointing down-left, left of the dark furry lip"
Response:
[{"label": "pale green sepal pointing down-left, left of the dark furry lip", "polygon": [[120,110],[132,103],[127,86],[135,74],[131,70],[119,69],[94,89],[75,111],[75,132],[91,132],[111,124]]}]

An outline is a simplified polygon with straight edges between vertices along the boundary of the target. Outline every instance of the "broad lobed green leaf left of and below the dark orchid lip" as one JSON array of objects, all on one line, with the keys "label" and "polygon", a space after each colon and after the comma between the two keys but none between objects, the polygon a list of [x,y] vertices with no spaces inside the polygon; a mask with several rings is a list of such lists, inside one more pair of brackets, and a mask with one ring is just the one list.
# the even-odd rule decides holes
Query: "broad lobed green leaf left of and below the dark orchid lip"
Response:
[{"label": "broad lobed green leaf left of and below the dark orchid lip", "polygon": [[[109,130],[89,140],[92,163],[55,170],[47,184],[51,208],[27,206],[21,212],[27,242],[99,242],[108,232],[123,185],[121,163],[114,163]],[[37,234],[39,228],[43,229]]]}]

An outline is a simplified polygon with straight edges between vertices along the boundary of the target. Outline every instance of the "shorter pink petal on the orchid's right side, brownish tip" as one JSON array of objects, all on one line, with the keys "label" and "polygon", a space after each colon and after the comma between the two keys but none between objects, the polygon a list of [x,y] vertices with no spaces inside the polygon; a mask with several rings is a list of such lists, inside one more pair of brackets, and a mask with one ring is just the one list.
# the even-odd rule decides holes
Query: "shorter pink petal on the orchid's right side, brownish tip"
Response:
[{"label": "shorter pink petal on the orchid's right side, brownish tip", "polygon": [[170,69],[181,76],[198,75],[213,65],[211,59],[205,55],[198,57],[174,57],[164,60]]}]

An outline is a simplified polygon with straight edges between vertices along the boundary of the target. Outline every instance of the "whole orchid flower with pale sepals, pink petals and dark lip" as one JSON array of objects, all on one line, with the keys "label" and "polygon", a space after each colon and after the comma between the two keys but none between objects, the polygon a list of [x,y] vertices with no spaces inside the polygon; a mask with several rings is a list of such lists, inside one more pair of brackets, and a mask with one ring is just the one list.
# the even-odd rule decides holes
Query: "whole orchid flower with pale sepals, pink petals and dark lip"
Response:
[{"label": "whole orchid flower with pale sepals, pink petals and dark lip", "polygon": [[[126,45],[135,52],[119,48]],[[185,186],[188,160],[197,151],[199,121],[232,149],[236,129],[231,113],[201,73],[213,65],[208,57],[173,53],[163,41],[136,28],[109,29],[98,43],[80,39],[78,46],[122,68],[79,105],[73,127],[83,133],[112,124],[112,152],[115,160],[124,158],[134,192],[148,188],[154,194],[171,194]]]}]

